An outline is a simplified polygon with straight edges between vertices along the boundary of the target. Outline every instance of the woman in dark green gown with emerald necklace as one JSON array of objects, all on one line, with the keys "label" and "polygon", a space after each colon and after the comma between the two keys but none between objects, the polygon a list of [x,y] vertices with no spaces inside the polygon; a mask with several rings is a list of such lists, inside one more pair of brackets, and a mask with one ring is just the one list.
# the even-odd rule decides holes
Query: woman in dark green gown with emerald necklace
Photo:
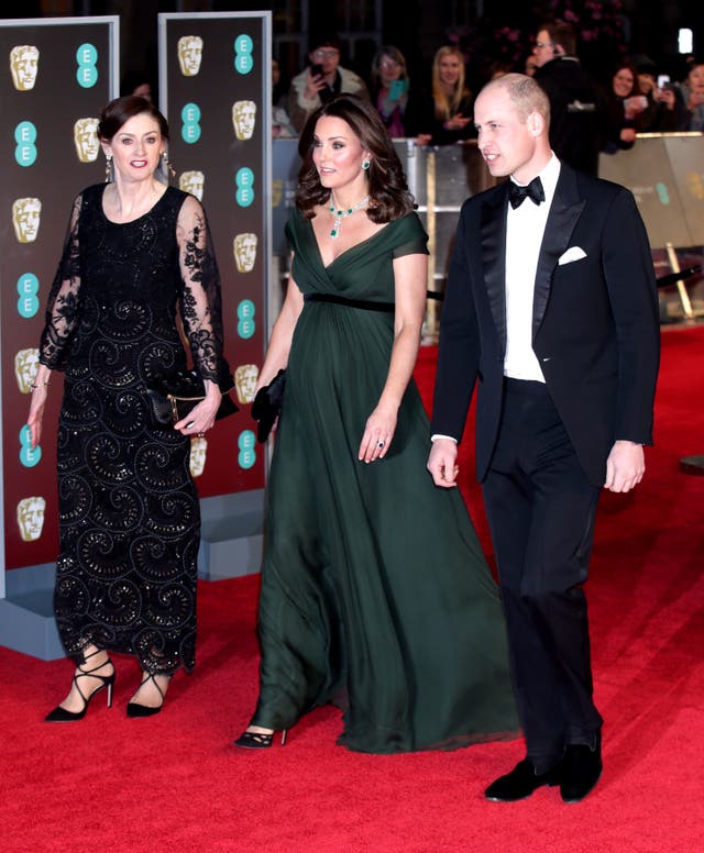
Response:
[{"label": "woman in dark green gown with emerald necklace", "polygon": [[260,699],[239,746],[312,707],[362,752],[515,736],[496,585],[460,494],[433,486],[411,378],[427,235],[371,104],[300,137],[292,277],[260,375],[287,367],[267,490]]}]

